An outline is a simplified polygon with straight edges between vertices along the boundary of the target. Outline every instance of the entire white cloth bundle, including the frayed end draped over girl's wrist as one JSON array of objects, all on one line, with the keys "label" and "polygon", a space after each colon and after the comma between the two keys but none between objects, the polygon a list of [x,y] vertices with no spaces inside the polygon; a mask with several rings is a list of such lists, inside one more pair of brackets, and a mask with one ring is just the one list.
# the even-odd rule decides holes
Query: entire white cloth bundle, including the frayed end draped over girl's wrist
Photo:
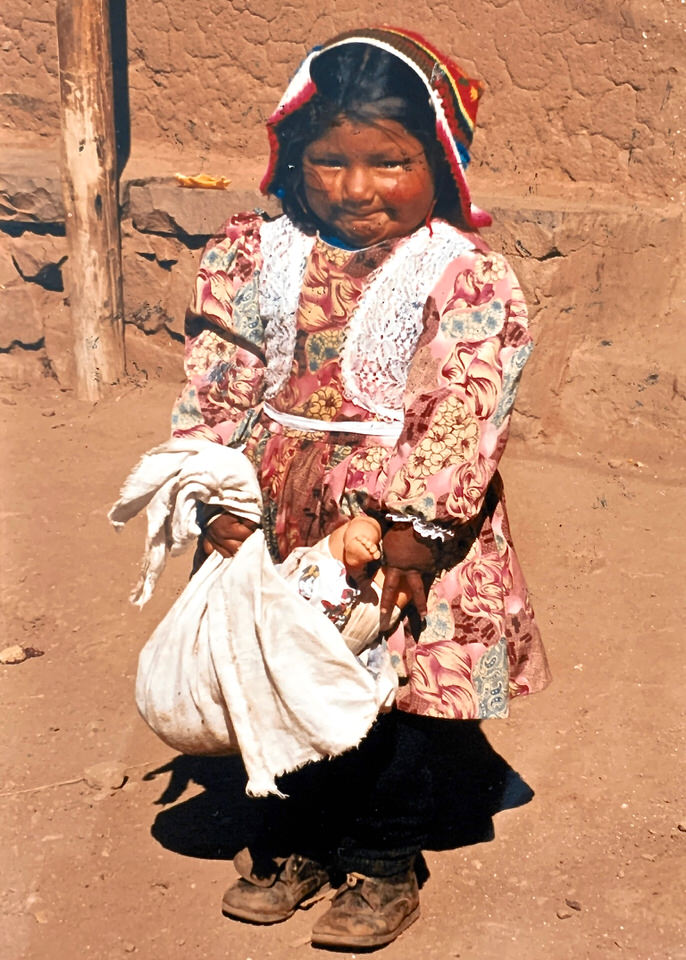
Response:
[{"label": "entire white cloth bundle, including the frayed end draped over girl's wrist", "polygon": [[[196,469],[197,468],[197,469]],[[197,536],[201,499],[259,519],[249,461],[210,441],[170,441],[146,454],[110,512],[116,525],[148,506],[139,606],[169,550]],[[383,652],[383,651],[382,651]],[[356,746],[397,678],[386,653],[375,674],[331,621],[278,573],[261,530],[233,559],[213,553],[141,651],[136,702],[151,728],[185,753],[240,751],[247,792],[278,793],[274,778]]]}]

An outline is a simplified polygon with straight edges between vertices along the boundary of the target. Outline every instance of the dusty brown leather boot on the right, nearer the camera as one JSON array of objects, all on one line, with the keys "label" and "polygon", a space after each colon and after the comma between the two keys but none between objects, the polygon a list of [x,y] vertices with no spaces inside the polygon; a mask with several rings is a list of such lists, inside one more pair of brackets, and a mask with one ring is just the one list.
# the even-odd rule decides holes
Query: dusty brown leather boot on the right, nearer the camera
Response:
[{"label": "dusty brown leather boot on the right, nearer the camera", "polygon": [[312,930],[315,947],[381,947],[419,916],[419,888],[413,869],[393,877],[349,873],[327,912]]}]

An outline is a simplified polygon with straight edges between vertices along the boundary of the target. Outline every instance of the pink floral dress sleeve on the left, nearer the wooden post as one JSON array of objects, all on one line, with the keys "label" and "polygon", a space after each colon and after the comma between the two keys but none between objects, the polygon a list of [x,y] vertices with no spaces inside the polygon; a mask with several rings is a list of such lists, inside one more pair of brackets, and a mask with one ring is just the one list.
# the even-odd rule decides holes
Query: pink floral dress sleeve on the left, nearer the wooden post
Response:
[{"label": "pink floral dress sleeve on the left, nearer the wooden post", "polygon": [[229,443],[262,399],[261,223],[256,214],[232,217],[203,252],[186,313],[187,381],[172,412],[174,436]]}]

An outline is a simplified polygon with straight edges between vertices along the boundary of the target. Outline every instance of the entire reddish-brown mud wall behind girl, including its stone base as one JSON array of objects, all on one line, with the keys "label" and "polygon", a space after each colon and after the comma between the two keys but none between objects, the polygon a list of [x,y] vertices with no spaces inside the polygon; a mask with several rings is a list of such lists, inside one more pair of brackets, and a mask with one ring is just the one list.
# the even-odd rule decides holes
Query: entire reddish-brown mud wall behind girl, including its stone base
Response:
[{"label": "entire reddish-brown mud wall behind girl, including its stone base", "polygon": [[[111,0],[127,352],[179,378],[200,248],[259,196],[263,123],[308,47],[390,22],[452,53],[486,93],[470,168],[512,259],[537,350],[515,428],[551,445],[669,458],[686,396],[686,154],[680,0]],[[73,382],[53,4],[0,13],[0,376]],[[187,192],[172,174],[232,179]]]}]

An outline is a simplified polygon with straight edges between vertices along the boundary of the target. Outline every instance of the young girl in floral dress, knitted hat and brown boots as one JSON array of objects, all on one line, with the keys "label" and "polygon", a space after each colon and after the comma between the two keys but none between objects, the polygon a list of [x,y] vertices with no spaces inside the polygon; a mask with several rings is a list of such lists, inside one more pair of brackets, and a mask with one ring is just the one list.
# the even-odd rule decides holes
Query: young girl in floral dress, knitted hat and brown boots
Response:
[{"label": "young girl in floral dress, knitted hat and brown boots", "polygon": [[[475,232],[490,222],[465,180],[479,95],[400,30],[316,48],[268,125],[263,189],[284,216],[225,225],[187,316],[175,433],[244,445],[273,559],[367,515],[382,617],[401,584],[411,601],[397,709],[289,776],[287,800],[254,801],[224,896],[227,915],[274,923],[347,875],[317,946],[389,943],[419,914],[428,718],[504,717],[548,682],[496,472],[531,339],[512,271]],[[250,532],[222,515],[205,549],[233,555]]]}]

